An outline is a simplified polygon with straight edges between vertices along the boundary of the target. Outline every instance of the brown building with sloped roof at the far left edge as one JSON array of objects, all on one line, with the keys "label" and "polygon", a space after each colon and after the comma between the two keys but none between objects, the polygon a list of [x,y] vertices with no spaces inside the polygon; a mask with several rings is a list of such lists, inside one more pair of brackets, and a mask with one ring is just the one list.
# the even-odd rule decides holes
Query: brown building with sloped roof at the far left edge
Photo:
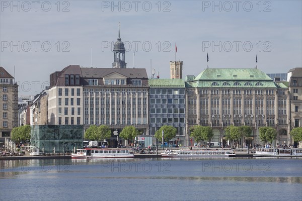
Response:
[{"label": "brown building with sloped roof at the far left edge", "polygon": [[18,127],[18,85],[14,77],[0,67],[0,141],[11,137],[11,131]]}]

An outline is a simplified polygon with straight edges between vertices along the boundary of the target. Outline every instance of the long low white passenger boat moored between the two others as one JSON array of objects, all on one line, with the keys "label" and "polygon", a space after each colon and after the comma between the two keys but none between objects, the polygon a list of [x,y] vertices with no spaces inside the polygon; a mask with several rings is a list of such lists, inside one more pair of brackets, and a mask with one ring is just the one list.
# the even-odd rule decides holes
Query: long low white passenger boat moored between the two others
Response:
[{"label": "long low white passenger boat moored between the two others", "polygon": [[232,157],[235,156],[233,150],[168,150],[162,153],[163,157]]}]

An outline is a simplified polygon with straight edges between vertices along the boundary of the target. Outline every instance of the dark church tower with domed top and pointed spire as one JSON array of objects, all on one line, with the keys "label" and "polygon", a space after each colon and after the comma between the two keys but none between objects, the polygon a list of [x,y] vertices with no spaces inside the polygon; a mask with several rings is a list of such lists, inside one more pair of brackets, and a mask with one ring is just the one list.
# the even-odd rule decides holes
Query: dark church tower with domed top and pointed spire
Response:
[{"label": "dark church tower with domed top and pointed spire", "polygon": [[121,41],[120,31],[119,31],[119,25],[118,25],[118,37],[117,41],[114,44],[113,48],[113,63],[112,68],[126,68],[125,63],[125,46],[124,43]]}]

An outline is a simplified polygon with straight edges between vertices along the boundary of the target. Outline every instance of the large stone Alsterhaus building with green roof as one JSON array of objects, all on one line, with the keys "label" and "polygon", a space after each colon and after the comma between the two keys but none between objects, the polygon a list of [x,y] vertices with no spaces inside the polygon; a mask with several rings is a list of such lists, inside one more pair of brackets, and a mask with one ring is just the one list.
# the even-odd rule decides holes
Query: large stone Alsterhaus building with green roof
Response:
[{"label": "large stone Alsterhaus building with green roof", "polygon": [[260,144],[259,127],[271,126],[278,132],[277,143],[290,144],[288,98],[282,82],[258,69],[207,68],[186,78],[187,135],[194,125],[211,126],[212,142],[225,144],[225,127],[247,125],[253,128],[247,143]]}]

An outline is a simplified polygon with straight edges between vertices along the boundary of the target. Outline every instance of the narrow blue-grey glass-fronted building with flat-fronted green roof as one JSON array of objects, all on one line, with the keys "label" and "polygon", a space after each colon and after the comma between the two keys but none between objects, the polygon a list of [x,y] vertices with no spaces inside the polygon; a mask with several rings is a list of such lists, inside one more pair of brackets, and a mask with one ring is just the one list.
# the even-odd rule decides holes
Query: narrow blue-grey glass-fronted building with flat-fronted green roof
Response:
[{"label": "narrow blue-grey glass-fronted building with flat-fronted green roof", "polygon": [[150,87],[150,135],[162,126],[177,129],[176,137],[171,139],[176,144],[185,144],[185,82],[183,79],[149,79]]}]

